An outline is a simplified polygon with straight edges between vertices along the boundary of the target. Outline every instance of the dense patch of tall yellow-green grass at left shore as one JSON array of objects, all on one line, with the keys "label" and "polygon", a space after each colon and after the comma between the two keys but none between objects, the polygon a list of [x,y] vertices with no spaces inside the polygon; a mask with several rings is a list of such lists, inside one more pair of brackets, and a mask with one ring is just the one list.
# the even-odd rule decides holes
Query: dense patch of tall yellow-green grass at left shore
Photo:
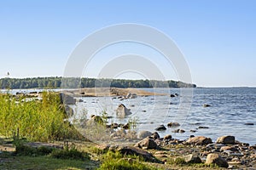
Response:
[{"label": "dense patch of tall yellow-green grass at left shore", "polygon": [[[63,120],[67,118],[60,95],[44,92],[42,100],[24,101],[0,94],[0,135],[19,136],[32,141],[78,137],[79,133]],[[17,132],[17,129],[18,132]]]}]

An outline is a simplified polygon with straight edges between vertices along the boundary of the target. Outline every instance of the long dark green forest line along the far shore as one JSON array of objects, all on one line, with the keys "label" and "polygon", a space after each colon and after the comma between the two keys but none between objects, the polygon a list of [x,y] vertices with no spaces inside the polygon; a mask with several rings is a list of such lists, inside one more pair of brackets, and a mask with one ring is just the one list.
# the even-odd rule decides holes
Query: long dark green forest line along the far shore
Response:
[{"label": "long dark green forest line along the far shore", "polygon": [[32,77],[1,78],[0,88],[196,88],[195,84],[179,81],[126,80],[108,78]]}]

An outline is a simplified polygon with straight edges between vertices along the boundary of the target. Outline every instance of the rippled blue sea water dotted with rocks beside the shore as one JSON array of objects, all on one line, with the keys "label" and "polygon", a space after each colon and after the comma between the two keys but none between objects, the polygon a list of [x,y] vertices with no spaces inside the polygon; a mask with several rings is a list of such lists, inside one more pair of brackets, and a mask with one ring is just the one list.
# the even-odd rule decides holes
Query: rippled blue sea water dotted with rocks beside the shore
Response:
[{"label": "rippled blue sea water dotted with rocks beside the shore", "polygon": [[[149,96],[137,97],[120,101],[111,97],[82,98],[84,102],[73,108],[81,113],[87,111],[87,116],[99,115],[102,110],[113,116],[108,122],[125,123],[130,119],[138,122],[137,131],[148,130],[168,122],[179,122],[180,127],[168,128],[159,132],[163,137],[172,134],[177,139],[187,139],[190,135],[203,135],[216,140],[222,135],[234,135],[236,140],[256,144],[256,88],[194,88],[194,89],[152,89],[156,93],[179,94],[178,97]],[[182,91],[183,90],[183,91]],[[187,96],[193,90],[191,100]],[[186,93],[189,91],[189,93]],[[184,93],[185,92],[185,93]],[[116,117],[115,110],[119,104],[131,109],[132,115],[125,119]],[[203,107],[208,104],[211,107]],[[245,123],[254,123],[253,126]],[[200,126],[209,128],[198,128]],[[173,133],[177,128],[185,133]],[[196,130],[195,133],[190,130]]]}]

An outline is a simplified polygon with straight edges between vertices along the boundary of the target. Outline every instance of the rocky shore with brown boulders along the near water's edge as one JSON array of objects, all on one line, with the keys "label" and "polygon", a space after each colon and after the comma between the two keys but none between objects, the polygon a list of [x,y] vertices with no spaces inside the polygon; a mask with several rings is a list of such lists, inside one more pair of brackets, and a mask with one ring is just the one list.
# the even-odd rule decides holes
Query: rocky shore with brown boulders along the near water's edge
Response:
[{"label": "rocky shore with brown boulders along the near water's edge", "polygon": [[[113,140],[130,137],[120,131]],[[129,136],[129,135],[127,135]],[[142,156],[146,161],[168,165],[182,161],[184,164],[215,165],[229,169],[256,169],[256,145],[236,141],[235,136],[221,136],[216,141],[204,136],[191,136],[189,139],[173,139],[171,134],[160,138],[157,132],[139,132],[133,137],[136,144],[98,144],[99,150],[119,151],[125,155]],[[131,140],[130,140],[131,141]]]}]

